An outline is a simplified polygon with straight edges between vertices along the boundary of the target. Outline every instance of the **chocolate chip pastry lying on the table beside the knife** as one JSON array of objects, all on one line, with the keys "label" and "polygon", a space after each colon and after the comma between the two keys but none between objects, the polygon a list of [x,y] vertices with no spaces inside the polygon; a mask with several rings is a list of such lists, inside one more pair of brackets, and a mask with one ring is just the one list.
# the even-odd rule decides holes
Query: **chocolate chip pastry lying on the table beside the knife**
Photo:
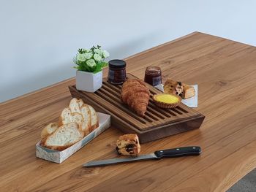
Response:
[{"label": "chocolate chip pastry lying on the table beside the knife", "polygon": [[141,147],[137,134],[124,134],[116,142],[118,155],[137,156]]}]

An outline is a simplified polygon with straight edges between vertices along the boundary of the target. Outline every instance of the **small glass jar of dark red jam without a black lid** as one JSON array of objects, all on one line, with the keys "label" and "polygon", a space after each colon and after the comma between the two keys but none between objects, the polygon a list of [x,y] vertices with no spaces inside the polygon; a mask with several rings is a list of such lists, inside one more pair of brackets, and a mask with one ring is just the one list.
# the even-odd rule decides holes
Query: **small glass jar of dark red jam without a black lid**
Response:
[{"label": "small glass jar of dark red jam without a black lid", "polygon": [[148,84],[157,86],[162,83],[162,72],[159,66],[147,66],[144,81]]}]

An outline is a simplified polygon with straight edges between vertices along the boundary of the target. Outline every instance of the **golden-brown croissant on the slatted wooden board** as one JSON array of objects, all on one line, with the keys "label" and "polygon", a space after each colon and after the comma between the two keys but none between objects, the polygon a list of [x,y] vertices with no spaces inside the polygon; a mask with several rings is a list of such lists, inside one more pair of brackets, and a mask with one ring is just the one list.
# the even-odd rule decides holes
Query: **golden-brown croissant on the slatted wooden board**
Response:
[{"label": "golden-brown croissant on the slatted wooden board", "polygon": [[141,117],[145,116],[150,93],[142,80],[128,79],[121,88],[121,99],[124,104]]}]

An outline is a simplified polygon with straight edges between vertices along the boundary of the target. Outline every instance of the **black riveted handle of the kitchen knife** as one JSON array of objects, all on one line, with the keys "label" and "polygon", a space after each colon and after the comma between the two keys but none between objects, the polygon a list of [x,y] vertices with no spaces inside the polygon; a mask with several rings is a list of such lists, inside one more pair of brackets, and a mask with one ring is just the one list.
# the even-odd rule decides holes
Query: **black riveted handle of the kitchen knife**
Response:
[{"label": "black riveted handle of the kitchen knife", "polygon": [[175,158],[187,155],[200,155],[201,147],[191,146],[191,147],[176,147],[169,150],[157,150],[154,154],[157,158]]}]

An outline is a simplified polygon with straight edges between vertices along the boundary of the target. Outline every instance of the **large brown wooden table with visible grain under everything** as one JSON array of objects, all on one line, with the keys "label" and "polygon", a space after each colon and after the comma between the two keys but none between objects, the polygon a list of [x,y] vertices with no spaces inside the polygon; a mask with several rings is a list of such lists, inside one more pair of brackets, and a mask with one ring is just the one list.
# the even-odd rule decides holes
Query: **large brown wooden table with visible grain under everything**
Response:
[{"label": "large brown wooden table with visible grain under everything", "polygon": [[200,129],[143,144],[142,153],[186,145],[200,145],[203,153],[82,168],[116,157],[122,133],[113,126],[62,164],[36,158],[40,131],[71,99],[71,79],[1,104],[1,191],[226,191],[256,167],[256,47],[195,32],[126,61],[140,78],[157,65],[164,79],[197,83],[197,110],[206,115]]}]

